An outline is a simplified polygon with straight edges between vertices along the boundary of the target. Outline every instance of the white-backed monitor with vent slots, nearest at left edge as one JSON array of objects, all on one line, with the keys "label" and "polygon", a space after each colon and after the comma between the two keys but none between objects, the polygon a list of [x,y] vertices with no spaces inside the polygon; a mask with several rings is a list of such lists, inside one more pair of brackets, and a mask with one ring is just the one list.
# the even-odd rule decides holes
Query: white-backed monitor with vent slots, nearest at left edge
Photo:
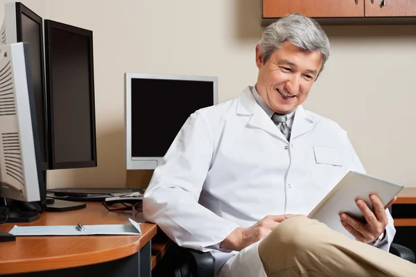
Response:
[{"label": "white-backed monitor with vent slots, nearest at left edge", "polygon": [[0,46],[0,197],[45,198],[28,44]]}]

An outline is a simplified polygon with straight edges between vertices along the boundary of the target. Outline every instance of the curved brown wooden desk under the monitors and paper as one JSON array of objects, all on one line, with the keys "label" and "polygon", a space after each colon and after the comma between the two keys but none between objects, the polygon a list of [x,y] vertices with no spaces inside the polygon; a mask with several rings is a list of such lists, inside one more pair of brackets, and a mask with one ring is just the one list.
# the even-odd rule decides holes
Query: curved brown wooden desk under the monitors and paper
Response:
[{"label": "curved brown wooden desk under the monitors and paper", "polygon": [[[16,225],[129,224],[129,217],[139,221],[136,217],[141,216],[137,212],[110,212],[101,203],[88,202],[87,208],[78,211],[42,213],[40,220]],[[14,225],[2,224],[0,231],[10,231]],[[141,231],[142,235],[17,236],[15,242],[0,243],[0,274],[38,271],[31,276],[150,276],[168,240],[155,244],[160,251],[153,251],[152,256],[151,240],[157,226],[144,223]]]}]

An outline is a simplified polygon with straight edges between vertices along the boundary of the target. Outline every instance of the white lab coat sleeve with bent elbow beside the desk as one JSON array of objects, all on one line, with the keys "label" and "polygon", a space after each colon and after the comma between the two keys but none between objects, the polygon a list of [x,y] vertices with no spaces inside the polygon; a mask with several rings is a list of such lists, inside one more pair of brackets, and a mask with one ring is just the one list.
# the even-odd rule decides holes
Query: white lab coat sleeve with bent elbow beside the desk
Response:
[{"label": "white lab coat sleeve with bent elbow beside the desk", "polygon": [[200,251],[218,248],[219,242],[239,227],[198,204],[213,152],[210,126],[204,114],[196,111],[153,172],[144,194],[145,220],[156,223],[182,247]]}]

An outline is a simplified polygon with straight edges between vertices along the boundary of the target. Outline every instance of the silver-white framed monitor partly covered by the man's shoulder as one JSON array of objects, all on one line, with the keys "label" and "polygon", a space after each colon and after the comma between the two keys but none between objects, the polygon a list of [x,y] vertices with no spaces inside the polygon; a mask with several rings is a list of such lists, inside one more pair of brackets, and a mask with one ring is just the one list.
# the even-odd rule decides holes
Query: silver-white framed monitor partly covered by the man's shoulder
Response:
[{"label": "silver-white framed monitor partly covered by the man's shoulder", "polygon": [[218,78],[125,73],[128,170],[155,169],[187,118],[218,103]]}]

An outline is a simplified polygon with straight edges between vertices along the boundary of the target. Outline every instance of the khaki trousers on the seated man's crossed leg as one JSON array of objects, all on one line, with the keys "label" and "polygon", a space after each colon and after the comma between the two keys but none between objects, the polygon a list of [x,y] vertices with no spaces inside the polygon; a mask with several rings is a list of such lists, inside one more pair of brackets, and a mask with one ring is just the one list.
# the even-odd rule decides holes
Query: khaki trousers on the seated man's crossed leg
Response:
[{"label": "khaki trousers on the seated man's crossed leg", "polygon": [[258,247],[267,276],[416,276],[416,265],[307,217],[281,222]]}]

